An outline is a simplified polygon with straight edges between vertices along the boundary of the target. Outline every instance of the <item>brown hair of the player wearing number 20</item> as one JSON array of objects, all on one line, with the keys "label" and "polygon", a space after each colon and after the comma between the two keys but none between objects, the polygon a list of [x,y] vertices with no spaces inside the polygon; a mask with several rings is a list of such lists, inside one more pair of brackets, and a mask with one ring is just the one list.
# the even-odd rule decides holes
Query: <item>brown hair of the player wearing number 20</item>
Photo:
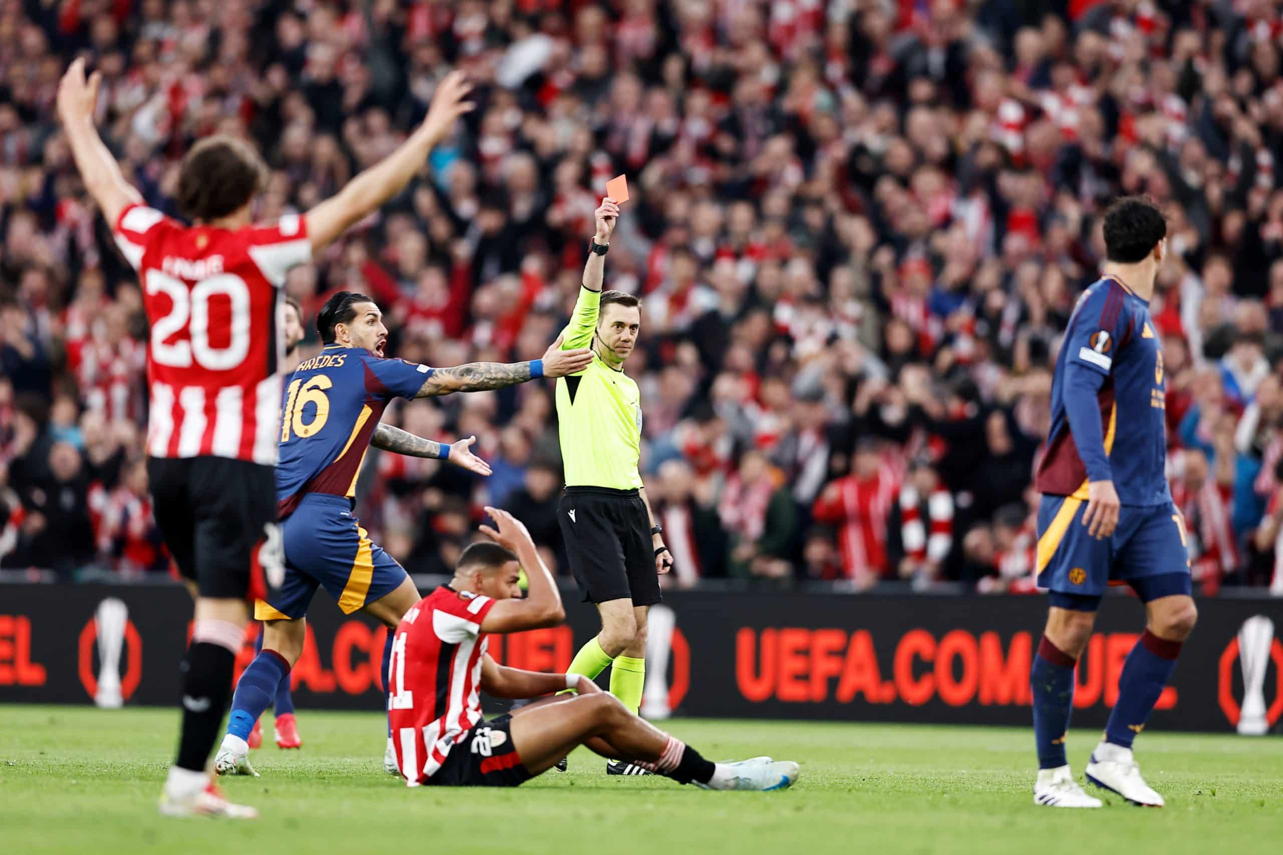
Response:
[{"label": "brown hair of the player wearing number 20", "polygon": [[227,217],[267,187],[267,164],[244,140],[205,137],[182,159],[178,208],[195,220]]}]

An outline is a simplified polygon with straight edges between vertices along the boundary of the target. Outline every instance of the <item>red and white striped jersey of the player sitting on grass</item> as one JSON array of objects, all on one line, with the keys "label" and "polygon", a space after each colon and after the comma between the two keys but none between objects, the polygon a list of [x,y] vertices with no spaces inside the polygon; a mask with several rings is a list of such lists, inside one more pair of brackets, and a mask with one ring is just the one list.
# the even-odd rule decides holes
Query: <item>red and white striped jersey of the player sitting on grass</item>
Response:
[{"label": "red and white striped jersey of the player sitting on grass", "polygon": [[405,613],[387,665],[387,722],[396,768],[411,787],[431,778],[450,749],[481,720],[481,622],[494,606],[488,596],[432,591]]}]

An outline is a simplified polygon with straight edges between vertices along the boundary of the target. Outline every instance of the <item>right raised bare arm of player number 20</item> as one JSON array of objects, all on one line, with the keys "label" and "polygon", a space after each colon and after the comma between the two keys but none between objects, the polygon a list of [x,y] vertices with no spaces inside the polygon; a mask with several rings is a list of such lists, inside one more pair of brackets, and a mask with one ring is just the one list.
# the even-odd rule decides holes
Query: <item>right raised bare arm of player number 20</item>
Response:
[{"label": "right raised bare arm of player number 20", "polygon": [[395,151],[307,213],[313,253],[372,214],[409,183],[436,144],[454,127],[454,122],[472,109],[472,103],[464,100],[471,90],[463,72],[446,74],[436,86],[427,118]]}]

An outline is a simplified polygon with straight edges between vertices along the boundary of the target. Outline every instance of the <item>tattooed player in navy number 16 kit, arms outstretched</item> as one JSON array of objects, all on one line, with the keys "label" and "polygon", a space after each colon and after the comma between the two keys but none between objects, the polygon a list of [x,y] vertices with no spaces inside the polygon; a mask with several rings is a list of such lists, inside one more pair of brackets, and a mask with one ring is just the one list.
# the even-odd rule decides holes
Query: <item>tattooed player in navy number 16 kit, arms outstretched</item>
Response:
[{"label": "tattooed player in navy number 16 kit, arms outstretched", "polygon": [[[325,347],[289,377],[281,410],[276,497],[285,581],[254,605],[254,617],[267,622],[263,650],[236,685],[227,735],[214,758],[219,774],[257,774],[249,763],[249,735],[303,654],[304,617],[317,587],[325,586],[344,614],[366,611],[389,629],[420,599],[405,569],[371,542],[353,514],[357,474],[368,447],[439,458],[490,474],[485,461],[468,450],[475,437],[441,445],[381,424],[387,403],[562,377],[581,370],[591,358],[588,350],[561,350],[557,342],[544,359],[513,364],[429,368],[385,359],[382,313],[373,300],[350,291],[326,301],[317,329]],[[384,647],[385,677],[390,651],[391,636]],[[395,772],[390,747],[385,768]]]}]

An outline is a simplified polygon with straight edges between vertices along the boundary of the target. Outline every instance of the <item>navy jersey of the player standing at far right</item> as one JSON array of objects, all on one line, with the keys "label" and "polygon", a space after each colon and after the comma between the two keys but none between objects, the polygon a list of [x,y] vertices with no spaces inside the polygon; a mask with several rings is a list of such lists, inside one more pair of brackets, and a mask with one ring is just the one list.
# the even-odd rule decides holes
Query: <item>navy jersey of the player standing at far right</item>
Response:
[{"label": "navy jersey of the player standing at far right", "polygon": [[1164,383],[1150,304],[1115,277],[1093,283],[1056,358],[1039,492],[1087,499],[1089,481],[1112,481],[1124,505],[1171,501]]}]

